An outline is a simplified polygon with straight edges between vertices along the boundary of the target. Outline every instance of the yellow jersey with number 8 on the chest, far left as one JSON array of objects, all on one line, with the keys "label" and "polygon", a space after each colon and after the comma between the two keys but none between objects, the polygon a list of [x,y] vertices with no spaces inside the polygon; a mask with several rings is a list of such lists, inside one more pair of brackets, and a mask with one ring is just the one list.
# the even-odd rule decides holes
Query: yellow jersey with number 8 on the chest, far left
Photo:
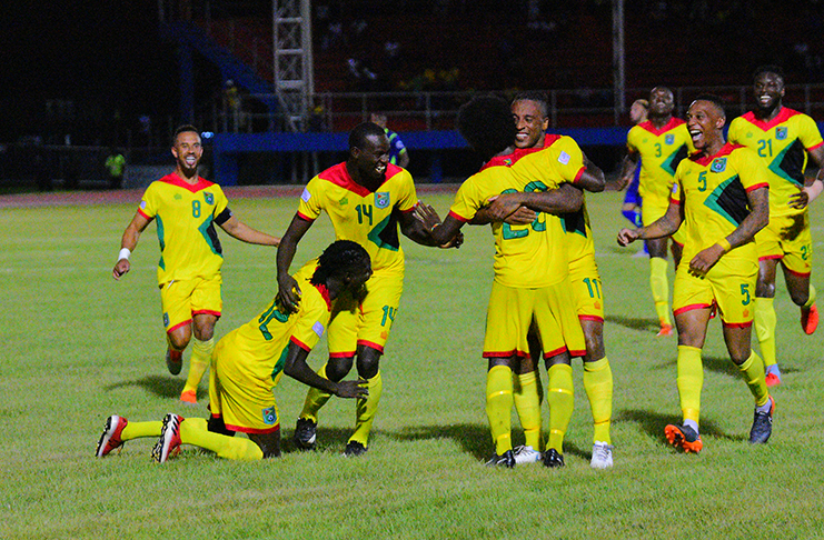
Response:
[{"label": "yellow jersey with number 8 on the chest, far left", "polygon": [[160,286],[220,272],[224,254],[215,224],[231,218],[228,204],[220,186],[200,177],[192,186],[172,172],[149,184],[138,212],[157,221]]}]

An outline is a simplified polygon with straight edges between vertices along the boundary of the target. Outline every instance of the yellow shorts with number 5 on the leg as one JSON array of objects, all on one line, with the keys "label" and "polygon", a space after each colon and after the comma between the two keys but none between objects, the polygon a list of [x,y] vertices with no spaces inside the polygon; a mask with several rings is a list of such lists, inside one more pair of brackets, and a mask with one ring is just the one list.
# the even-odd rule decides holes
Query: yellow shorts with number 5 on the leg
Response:
[{"label": "yellow shorts with number 5 on the leg", "polygon": [[705,278],[689,274],[688,261],[689,259],[684,258],[684,264],[679,264],[675,271],[673,284],[675,316],[693,309],[709,308],[715,303],[724,324],[751,326],[755,311],[757,261],[722,257]]}]

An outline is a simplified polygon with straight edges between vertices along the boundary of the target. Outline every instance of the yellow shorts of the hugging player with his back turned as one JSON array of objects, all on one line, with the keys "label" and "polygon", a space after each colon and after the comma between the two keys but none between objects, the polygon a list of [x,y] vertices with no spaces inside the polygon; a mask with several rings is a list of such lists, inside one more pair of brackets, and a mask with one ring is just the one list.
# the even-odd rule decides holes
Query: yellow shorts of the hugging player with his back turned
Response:
[{"label": "yellow shorts of the hugging player with his back turned", "polygon": [[573,357],[584,356],[584,332],[574,306],[567,280],[540,289],[516,289],[494,281],[486,313],[484,358],[528,357],[526,334],[533,319],[544,358],[565,351]]}]

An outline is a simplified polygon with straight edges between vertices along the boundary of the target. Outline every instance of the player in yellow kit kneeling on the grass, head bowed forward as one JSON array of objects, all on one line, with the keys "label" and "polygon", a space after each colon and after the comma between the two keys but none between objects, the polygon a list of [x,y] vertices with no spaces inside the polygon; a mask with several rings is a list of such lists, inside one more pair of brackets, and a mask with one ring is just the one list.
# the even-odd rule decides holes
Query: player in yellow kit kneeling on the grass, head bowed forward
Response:
[{"label": "player in yellow kit kneeling on the grass, head bowed forward", "polygon": [[[272,389],[284,372],[340,398],[367,394],[359,381],[319,377],[306,358],[328,324],[332,301],[342,293],[357,296],[370,276],[369,254],[363,247],[348,240],[334,242],[316,268],[304,267],[295,276],[302,291],[298,311],[289,313],[274,301],[218,342],[210,370],[208,422],[170,413],[162,423],[130,423],[112,416],[98,442],[97,457],[127,440],[158,436],[152,458],[160,463],[181,444],[195,444],[227,459],[280,456],[280,418]],[[232,438],[237,431],[247,433],[249,440]]]}]

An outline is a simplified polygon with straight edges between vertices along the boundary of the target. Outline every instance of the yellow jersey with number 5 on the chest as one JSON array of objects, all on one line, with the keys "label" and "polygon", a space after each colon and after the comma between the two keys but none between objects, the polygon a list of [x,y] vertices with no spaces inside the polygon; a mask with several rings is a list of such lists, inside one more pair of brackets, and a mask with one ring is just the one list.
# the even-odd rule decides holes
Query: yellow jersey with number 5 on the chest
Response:
[{"label": "yellow jersey with number 5 on the chest", "polygon": [[[755,152],[727,142],[715,156],[695,154],[678,166],[672,201],[683,204],[684,254],[688,261],[699,251],[728,237],[749,216],[747,193],[768,188],[766,168]],[[725,259],[757,260],[749,240]]]}]

